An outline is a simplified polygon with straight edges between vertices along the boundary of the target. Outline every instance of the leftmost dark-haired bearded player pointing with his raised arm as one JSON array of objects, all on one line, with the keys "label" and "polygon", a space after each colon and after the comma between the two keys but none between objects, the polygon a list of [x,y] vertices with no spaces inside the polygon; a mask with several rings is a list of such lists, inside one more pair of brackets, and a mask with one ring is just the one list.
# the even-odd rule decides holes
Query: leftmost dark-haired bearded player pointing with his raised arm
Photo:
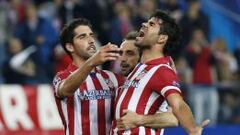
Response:
[{"label": "leftmost dark-haired bearded player pointing with his raised arm", "polygon": [[73,20],[60,35],[61,45],[72,58],[69,67],[53,80],[55,99],[66,135],[106,135],[112,122],[115,90],[124,80],[96,68],[117,60],[119,48],[108,44],[95,47],[94,34],[86,19]]}]

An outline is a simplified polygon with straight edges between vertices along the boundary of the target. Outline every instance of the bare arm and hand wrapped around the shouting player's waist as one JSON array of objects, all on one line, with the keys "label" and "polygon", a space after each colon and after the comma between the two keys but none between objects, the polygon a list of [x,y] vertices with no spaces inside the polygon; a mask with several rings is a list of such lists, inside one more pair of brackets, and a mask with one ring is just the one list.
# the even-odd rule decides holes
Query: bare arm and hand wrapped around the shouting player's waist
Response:
[{"label": "bare arm and hand wrapped around the shouting player's waist", "polygon": [[178,120],[172,112],[155,113],[154,115],[139,115],[124,110],[125,115],[117,120],[119,130],[126,130],[139,126],[150,128],[166,128],[178,126]]}]

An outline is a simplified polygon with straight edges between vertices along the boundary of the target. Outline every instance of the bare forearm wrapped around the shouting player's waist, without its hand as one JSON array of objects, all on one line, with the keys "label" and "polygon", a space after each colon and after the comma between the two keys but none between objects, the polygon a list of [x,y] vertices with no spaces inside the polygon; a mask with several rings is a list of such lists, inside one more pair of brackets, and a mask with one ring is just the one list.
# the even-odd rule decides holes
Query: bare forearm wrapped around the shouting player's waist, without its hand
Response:
[{"label": "bare forearm wrapped around the shouting player's waist, without its hand", "polygon": [[177,118],[170,112],[142,116],[140,126],[166,128],[178,126]]}]

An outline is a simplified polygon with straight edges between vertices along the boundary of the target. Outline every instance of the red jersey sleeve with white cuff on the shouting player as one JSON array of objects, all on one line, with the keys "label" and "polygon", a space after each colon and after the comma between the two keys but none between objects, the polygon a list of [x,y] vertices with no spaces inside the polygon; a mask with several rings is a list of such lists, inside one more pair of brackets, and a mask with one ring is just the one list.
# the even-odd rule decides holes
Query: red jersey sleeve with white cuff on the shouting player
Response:
[{"label": "red jersey sleeve with white cuff on the shouting player", "polygon": [[181,95],[179,79],[171,68],[167,66],[159,67],[153,76],[153,81],[153,89],[163,97],[166,98],[172,93]]}]

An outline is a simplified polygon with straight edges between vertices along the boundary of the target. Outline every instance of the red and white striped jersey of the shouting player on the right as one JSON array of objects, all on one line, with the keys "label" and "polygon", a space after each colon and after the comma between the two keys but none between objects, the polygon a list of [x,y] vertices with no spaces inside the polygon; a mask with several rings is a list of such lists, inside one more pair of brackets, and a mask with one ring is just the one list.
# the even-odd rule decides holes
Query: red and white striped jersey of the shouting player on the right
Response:
[{"label": "red and white striped jersey of the shouting player on the right", "polygon": [[[154,114],[164,104],[166,97],[172,93],[181,93],[178,78],[169,66],[169,58],[158,58],[139,63],[129,74],[121,89],[118,89],[115,100],[115,118],[111,134],[124,135],[162,135],[163,129],[138,127],[126,131],[118,131],[116,119],[123,116],[123,110],[131,110],[137,114]],[[166,102],[165,102],[166,103]]]}]

